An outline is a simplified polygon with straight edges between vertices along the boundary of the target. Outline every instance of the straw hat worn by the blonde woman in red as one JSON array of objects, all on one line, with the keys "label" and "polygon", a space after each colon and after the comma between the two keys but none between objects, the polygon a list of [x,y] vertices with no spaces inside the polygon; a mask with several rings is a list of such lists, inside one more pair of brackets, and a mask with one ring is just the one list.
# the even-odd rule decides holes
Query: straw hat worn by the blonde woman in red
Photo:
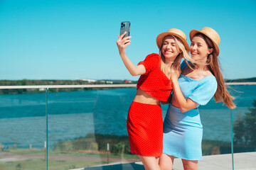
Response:
[{"label": "straw hat worn by the blonde woman in red", "polygon": [[183,42],[183,45],[185,46],[186,50],[189,51],[189,45],[188,42],[186,41],[186,35],[181,30],[178,30],[176,28],[171,28],[167,32],[161,33],[156,37],[156,44],[159,47],[159,49],[161,48],[163,40],[167,35],[174,35],[178,37]]}]

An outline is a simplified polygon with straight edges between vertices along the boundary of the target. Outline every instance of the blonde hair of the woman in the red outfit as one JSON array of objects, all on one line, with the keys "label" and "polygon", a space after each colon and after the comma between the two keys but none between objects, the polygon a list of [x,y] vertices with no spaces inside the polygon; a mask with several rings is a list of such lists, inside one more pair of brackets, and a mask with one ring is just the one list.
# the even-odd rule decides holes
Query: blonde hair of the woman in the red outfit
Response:
[{"label": "blonde hair of the woman in the red outfit", "polygon": [[[167,35],[167,36],[169,36],[169,35]],[[181,50],[181,53],[179,53],[178,56],[175,58],[174,63],[171,64],[171,72],[173,72],[174,70],[177,70],[178,67],[180,67],[182,58],[184,58],[184,60],[186,61],[187,64],[188,64],[187,60],[192,60],[192,59],[191,59],[191,57],[189,57],[188,52],[186,51],[186,48],[183,45],[183,42],[178,37],[176,37],[174,35],[171,35],[171,36],[174,38],[178,49]],[[167,66],[167,64],[165,64],[165,57],[161,52],[161,49],[164,44],[163,42],[162,42],[161,48],[159,49],[159,53],[161,56],[161,71],[164,72],[164,74],[166,74],[166,76],[169,77],[169,79],[171,79],[171,74],[170,75],[168,74],[168,66]]]}]

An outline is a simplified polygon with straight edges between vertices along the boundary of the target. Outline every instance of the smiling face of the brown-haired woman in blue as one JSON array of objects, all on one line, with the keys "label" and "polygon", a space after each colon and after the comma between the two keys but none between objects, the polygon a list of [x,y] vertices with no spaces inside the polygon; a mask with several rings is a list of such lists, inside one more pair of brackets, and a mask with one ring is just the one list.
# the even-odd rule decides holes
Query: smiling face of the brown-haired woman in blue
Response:
[{"label": "smiling face of the brown-haired woman in blue", "polygon": [[206,63],[208,55],[213,52],[213,48],[208,48],[202,35],[196,35],[191,40],[190,52],[193,60]]}]

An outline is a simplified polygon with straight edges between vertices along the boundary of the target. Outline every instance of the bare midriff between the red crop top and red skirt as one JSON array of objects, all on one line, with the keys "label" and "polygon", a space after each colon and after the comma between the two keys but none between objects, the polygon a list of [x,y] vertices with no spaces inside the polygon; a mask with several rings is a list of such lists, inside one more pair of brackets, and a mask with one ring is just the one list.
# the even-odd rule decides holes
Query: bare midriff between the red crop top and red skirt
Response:
[{"label": "bare midriff between the red crop top and red skirt", "polygon": [[149,94],[146,94],[146,92],[143,91],[142,89],[137,89],[134,101],[138,103],[160,105],[159,100],[150,96]]}]

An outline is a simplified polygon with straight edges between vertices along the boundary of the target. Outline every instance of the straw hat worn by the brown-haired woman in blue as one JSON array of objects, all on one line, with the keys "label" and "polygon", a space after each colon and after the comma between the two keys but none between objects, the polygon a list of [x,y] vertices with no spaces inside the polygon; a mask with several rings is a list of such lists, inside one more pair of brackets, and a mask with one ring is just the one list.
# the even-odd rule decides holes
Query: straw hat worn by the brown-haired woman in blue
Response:
[{"label": "straw hat worn by the brown-haired woman in blue", "polygon": [[192,40],[193,36],[196,35],[196,33],[202,33],[210,38],[210,40],[213,42],[217,56],[220,54],[220,49],[218,47],[218,45],[220,45],[220,36],[215,30],[213,30],[213,28],[205,27],[201,30],[191,30],[191,32],[189,33],[189,38]]}]

